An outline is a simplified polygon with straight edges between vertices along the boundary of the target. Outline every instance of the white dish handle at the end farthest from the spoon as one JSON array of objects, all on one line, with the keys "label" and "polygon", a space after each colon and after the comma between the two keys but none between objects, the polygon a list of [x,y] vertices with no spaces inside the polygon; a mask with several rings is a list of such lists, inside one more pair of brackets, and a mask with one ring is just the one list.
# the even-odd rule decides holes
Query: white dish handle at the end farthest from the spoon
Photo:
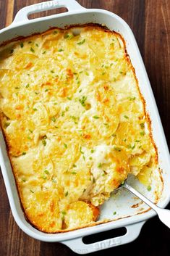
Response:
[{"label": "white dish handle at the end farthest from the spoon", "polygon": [[85,9],[80,4],[78,4],[77,1],[75,0],[44,1],[43,3],[33,4],[20,9],[20,11],[17,12],[17,15],[15,16],[13,23],[29,20],[28,15],[32,13],[48,11],[50,9],[57,9],[61,7],[67,8],[69,12],[75,11],[77,9]]}]

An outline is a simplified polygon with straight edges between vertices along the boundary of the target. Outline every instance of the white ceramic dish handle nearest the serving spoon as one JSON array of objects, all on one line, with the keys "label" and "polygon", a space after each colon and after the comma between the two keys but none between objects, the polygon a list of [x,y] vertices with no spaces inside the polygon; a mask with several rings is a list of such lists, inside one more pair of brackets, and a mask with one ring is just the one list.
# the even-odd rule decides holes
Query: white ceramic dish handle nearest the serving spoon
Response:
[{"label": "white ceramic dish handle nearest the serving spoon", "polygon": [[145,221],[140,223],[135,223],[129,226],[125,226],[127,233],[123,236],[117,236],[112,239],[106,239],[103,241],[97,241],[93,244],[84,244],[82,237],[77,239],[71,239],[67,241],[62,241],[62,244],[66,244],[73,252],[84,255],[90,252],[97,252],[101,249],[107,249],[111,247],[116,247],[121,244],[127,244],[130,241],[137,239],[137,236],[140,234],[140,230],[143,227]]}]

